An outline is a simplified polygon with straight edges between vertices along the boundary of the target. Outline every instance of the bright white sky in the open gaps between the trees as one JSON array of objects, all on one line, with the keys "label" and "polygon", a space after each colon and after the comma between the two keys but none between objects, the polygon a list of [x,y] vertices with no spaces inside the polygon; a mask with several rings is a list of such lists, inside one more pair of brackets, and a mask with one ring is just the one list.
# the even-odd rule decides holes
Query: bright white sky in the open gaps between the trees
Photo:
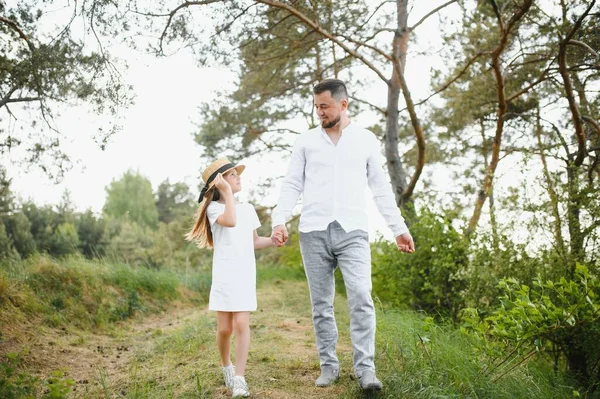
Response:
[{"label": "bright white sky in the open gaps between the trees", "polygon": [[[441,4],[440,1],[427,3],[431,8]],[[409,24],[430,9],[425,9],[422,2],[417,4],[420,6],[416,7],[422,9],[413,11]],[[426,47],[439,47],[437,21],[436,17],[430,18],[419,28],[419,32],[425,32],[421,33],[420,39]],[[214,99],[218,91],[231,90],[235,82],[234,71],[199,67],[193,56],[185,52],[167,58],[122,48],[113,53],[127,62],[128,68],[122,69],[121,73],[123,81],[133,86],[135,94],[134,105],[124,111],[122,130],[111,138],[103,151],[93,140],[92,133],[102,117],[89,114],[83,107],[64,110],[57,124],[64,133],[63,149],[75,161],[74,167],[59,184],[35,168],[30,171],[9,168],[12,189],[22,199],[32,199],[38,204],[57,204],[68,190],[76,209],[101,212],[106,199],[105,187],[128,169],[146,176],[154,189],[166,179],[171,183],[185,182],[192,190],[198,186],[198,171],[203,166],[200,161],[202,148],[193,139],[196,124],[200,122],[198,107]],[[413,98],[420,99],[428,94],[430,68],[436,64],[439,65],[439,59],[435,57],[409,59],[406,76]],[[375,85],[372,90],[380,91],[382,99],[387,96],[383,84]],[[364,118],[355,121],[365,126],[370,122]],[[298,126],[298,130],[308,127]],[[261,179],[279,176],[287,168],[287,161],[277,155],[247,159],[244,163],[247,165],[243,175],[246,192]],[[274,205],[279,185],[280,181],[276,181],[269,195],[262,199],[264,205]],[[244,199],[243,194],[241,197]],[[392,239],[373,201],[368,203],[371,239],[379,234]]]}]

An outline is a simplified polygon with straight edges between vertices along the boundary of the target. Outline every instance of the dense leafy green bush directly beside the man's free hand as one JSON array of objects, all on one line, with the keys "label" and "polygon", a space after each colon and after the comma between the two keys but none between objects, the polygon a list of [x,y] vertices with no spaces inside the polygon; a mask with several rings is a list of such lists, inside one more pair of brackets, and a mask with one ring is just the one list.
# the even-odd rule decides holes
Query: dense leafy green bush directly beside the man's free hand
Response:
[{"label": "dense leafy green bush directly beside the man's free hand", "polygon": [[428,210],[410,229],[416,238],[411,255],[399,253],[395,243],[372,244],[373,294],[392,306],[456,319],[466,288],[466,240],[449,220]]}]

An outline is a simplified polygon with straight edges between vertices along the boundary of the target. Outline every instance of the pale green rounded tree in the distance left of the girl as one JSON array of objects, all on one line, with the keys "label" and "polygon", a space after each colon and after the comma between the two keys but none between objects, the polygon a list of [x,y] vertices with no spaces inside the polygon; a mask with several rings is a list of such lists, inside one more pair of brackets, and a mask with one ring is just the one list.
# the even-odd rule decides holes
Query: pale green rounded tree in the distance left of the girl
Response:
[{"label": "pale green rounded tree in the distance left of the girl", "polygon": [[158,210],[152,183],[138,172],[127,171],[119,180],[106,187],[104,213],[117,219],[127,219],[140,226],[156,228]]}]

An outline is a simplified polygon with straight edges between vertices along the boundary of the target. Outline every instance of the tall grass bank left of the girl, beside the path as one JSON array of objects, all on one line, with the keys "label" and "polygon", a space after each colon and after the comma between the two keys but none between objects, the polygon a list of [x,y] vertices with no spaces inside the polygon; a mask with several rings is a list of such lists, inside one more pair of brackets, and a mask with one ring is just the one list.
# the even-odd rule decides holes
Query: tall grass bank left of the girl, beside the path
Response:
[{"label": "tall grass bank left of the girl, beside the path", "polygon": [[203,302],[210,274],[35,256],[0,267],[0,320],[40,317],[51,327],[105,328],[176,299]]}]

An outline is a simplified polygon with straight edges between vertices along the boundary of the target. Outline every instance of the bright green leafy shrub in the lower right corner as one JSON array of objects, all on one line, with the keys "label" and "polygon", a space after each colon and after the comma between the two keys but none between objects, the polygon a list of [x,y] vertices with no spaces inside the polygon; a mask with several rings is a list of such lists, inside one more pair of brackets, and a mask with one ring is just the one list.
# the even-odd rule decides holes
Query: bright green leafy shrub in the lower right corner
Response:
[{"label": "bright green leafy shrub in the lower right corner", "polygon": [[[567,366],[584,385],[600,383],[600,280],[578,265],[574,278],[536,278],[531,285],[514,278],[499,283],[500,306],[486,317],[465,310],[465,331],[478,337],[477,348],[504,358],[500,364],[525,362],[536,353],[563,353]],[[494,372],[492,367],[488,373]]]}]

